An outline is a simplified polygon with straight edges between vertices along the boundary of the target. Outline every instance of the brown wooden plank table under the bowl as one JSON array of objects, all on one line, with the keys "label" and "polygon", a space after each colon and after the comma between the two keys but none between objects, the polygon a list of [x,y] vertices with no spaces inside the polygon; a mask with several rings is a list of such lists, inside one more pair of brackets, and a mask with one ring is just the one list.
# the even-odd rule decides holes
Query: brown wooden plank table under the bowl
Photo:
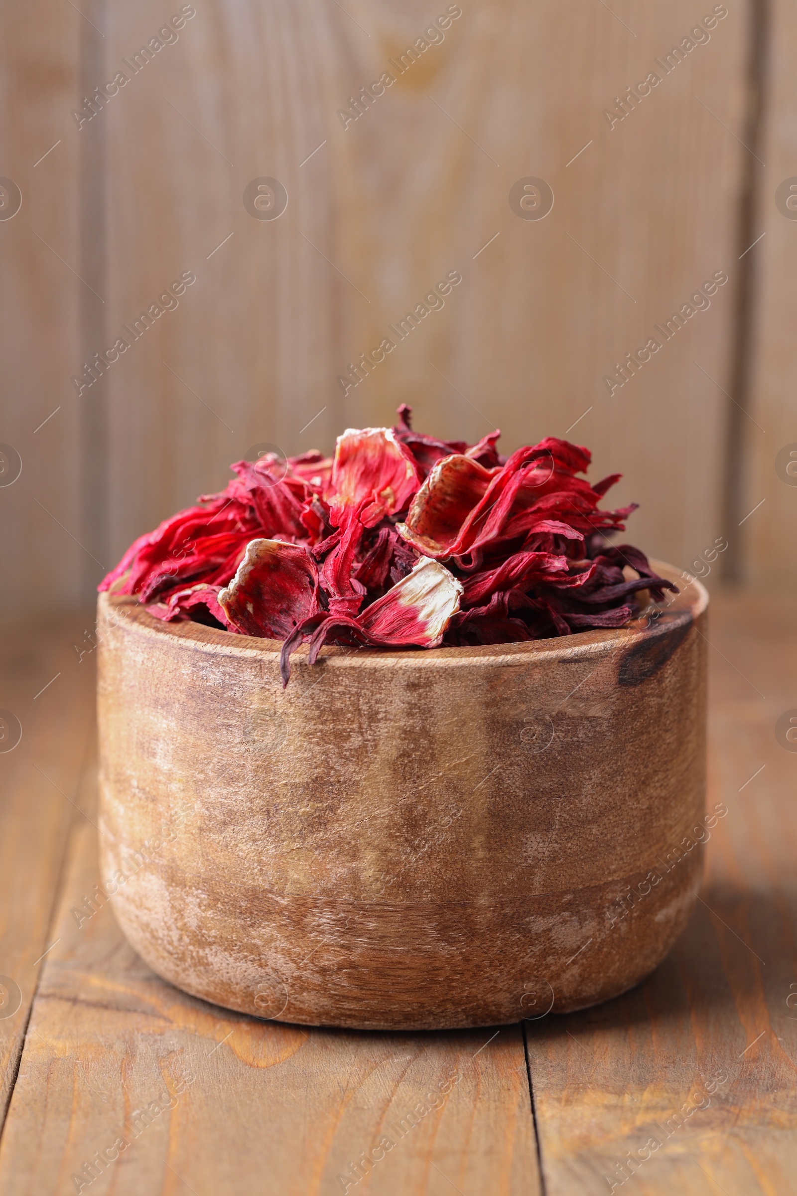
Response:
[{"label": "brown wooden plank table under the bowl", "polygon": [[775,738],[793,603],[713,594],[709,803],[728,814],[666,962],[584,1013],[424,1035],[253,1020],[137,958],[92,902],[91,627],[4,641],[23,738],[0,755],[2,1196],[797,1192],[797,753]]}]

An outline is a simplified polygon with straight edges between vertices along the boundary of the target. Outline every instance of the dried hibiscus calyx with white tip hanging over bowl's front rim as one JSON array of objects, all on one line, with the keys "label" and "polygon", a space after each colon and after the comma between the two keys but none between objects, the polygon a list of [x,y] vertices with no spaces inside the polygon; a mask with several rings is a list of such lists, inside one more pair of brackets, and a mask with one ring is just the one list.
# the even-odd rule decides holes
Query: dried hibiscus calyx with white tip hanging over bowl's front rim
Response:
[{"label": "dried hibiscus calyx with white tip hanging over bowl's front rim", "polygon": [[283,685],[290,676],[290,654],[309,639],[309,664],[324,643],[357,643],[380,648],[436,648],[459,610],[462,585],[445,566],[422,556],[411,573],[356,618],[315,615],[298,626],[282,646]]}]

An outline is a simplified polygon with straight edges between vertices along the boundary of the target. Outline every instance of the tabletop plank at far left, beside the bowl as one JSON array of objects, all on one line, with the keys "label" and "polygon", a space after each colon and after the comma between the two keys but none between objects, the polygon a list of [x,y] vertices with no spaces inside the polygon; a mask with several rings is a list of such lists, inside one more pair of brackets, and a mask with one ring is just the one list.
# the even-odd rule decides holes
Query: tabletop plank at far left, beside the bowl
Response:
[{"label": "tabletop plank at far left, beside the bowl", "polygon": [[75,788],[94,731],[93,658],[79,666],[72,648],[84,626],[75,616],[11,626],[0,648],[0,1123],[50,942],[68,828],[81,817]]}]

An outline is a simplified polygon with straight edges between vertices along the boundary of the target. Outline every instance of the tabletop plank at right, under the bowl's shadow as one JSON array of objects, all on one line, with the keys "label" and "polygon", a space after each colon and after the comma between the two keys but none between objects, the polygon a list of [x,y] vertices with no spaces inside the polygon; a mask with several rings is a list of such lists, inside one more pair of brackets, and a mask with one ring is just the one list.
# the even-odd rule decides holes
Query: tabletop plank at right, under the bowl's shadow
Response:
[{"label": "tabletop plank at right, under the bowl's shadow", "polygon": [[715,597],[709,808],[728,813],[683,938],[626,996],[527,1024],[548,1196],[619,1191],[629,1152],[650,1196],[796,1190],[797,755],[774,732],[793,704],[793,616]]}]

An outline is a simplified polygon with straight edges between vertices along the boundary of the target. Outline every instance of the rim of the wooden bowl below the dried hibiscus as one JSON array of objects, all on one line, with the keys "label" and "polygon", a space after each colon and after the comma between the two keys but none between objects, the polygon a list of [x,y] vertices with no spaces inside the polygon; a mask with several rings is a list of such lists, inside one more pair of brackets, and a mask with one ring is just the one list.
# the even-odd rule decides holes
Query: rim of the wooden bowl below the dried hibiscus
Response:
[{"label": "rim of the wooden bowl below the dried hibiscus", "polygon": [[[666,561],[650,559],[650,565],[656,572],[669,581],[683,581],[683,573],[675,566]],[[691,580],[680,592],[674,596],[670,603],[651,604],[655,609],[672,615],[689,614],[691,621],[697,622],[709,606],[709,591],[698,578],[688,574]],[[135,629],[136,633],[147,639],[166,637],[171,642],[185,647],[186,649],[200,649],[210,655],[241,657],[245,659],[257,659],[258,657],[278,657],[282,648],[282,640],[258,639],[253,635],[244,635],[233,631],[225,631],[215,627],[207,627],[203,623],[191,621],[168,623],[155,618],[143,606],[139,599],[129,594],[114,594],[102,592],[98,596],[98,621],[108,622],[115,615],[124,610],[123,622]],[[544,640],[526,640],[520,643],[482,643],[466,645],[465,647],[441,647],[441,648],[347,648],[341,645],[330,645],[321,648],[319,661],[324,661],[333,667],[351,667],[362,665],[388,666],[388,667],[433,667],[439,665],[460,666],[484,663],[489,665],[516,663],[519,658],[528,660],[533,658],[539,661],[550,661],[566,658],[569,660],[583,657],[600,657],[615,652],[620,646],[632,647],[640,642],[648,628],[643,626],[644,615],[637,616],[625,627],[620,628],[595,628],[586,631],[574,631],[571,635],[553,636]],[[679,623],[681,621],[679,620]],[[117,623],[118,626],[118,623]],[[672,622],[660,624],[672,627]],[[104,636],[100,637],[100,642]],[[163,640],[161,640],[163,642]],[[298,648],[292,655],[293,664],[304,664],[308,653],[307,645]]]}]

